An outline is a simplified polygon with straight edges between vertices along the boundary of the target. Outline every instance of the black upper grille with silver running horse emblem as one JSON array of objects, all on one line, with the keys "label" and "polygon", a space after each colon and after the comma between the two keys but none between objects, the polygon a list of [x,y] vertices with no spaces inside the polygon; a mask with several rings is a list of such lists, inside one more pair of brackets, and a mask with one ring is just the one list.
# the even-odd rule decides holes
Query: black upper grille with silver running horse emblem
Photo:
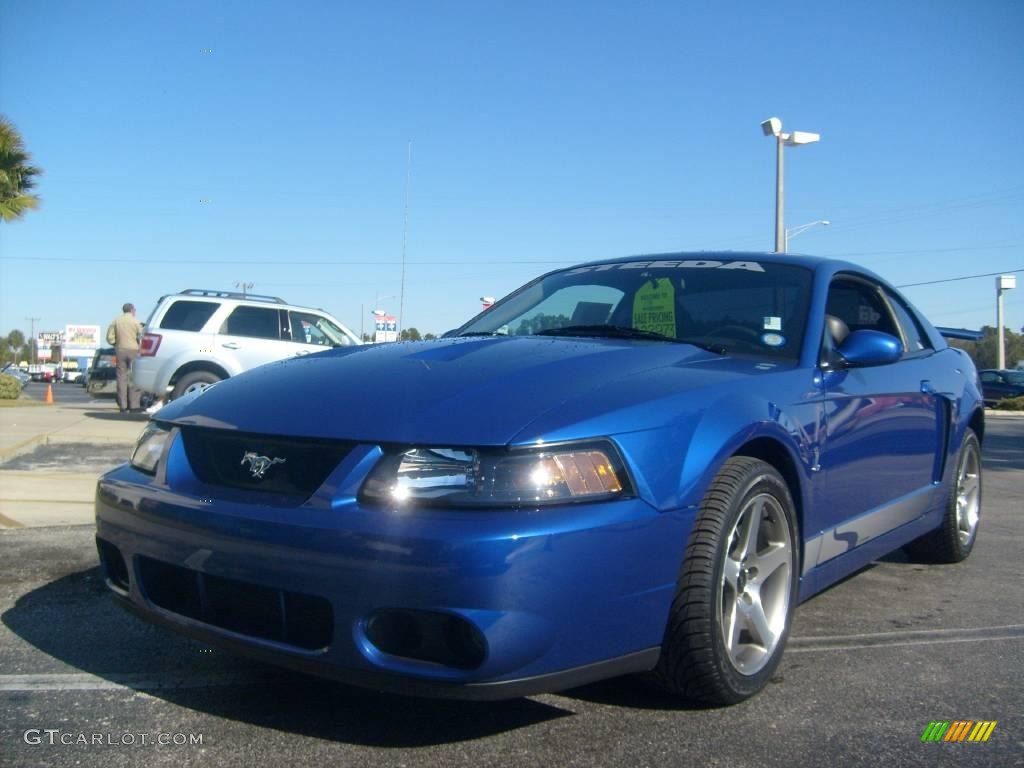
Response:
[{"label": "black upper grille with silver running horse emblem", "polygon": [[352,443],[338,440],[203,427],[183,427],[181,435],[188,464],[203,482],[301,499],[312,496],[352,450]]}]

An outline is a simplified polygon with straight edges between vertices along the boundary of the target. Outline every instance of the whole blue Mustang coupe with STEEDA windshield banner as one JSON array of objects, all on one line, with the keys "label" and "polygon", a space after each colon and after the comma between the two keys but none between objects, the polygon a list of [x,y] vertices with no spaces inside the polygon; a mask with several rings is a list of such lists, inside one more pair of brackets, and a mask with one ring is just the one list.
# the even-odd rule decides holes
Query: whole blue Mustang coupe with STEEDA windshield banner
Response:
[{"label": "whole blue Mustang coupe with STEEDA windshield banner", "polygon": [[100,478],[96,541],[143,617],[354,684],[650,672],[727,703],[801,600],[898,547],[970,554],[983,436],[970,358],[874,274],[637,256],[175,400]]}]

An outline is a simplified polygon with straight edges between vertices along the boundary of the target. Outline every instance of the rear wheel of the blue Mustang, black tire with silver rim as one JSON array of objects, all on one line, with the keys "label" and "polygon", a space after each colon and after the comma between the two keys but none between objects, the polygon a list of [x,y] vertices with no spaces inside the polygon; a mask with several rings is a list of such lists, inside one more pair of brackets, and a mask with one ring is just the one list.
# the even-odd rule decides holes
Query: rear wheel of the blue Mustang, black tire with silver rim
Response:
[{"label": "rear wheel of the blue Mustang, black tire with silver rim", "polygon": [[956,456],[956,472],[942,522],[906,546],[914,560],[952,563],[971,554],[981,524],[981,443],[969,427]]}]

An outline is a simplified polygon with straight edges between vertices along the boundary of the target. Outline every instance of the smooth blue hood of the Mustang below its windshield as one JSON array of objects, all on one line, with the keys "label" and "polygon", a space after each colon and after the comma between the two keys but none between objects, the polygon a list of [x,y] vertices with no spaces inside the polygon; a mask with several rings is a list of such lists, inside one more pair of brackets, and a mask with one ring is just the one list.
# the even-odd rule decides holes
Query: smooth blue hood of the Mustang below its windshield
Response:
[{"label": "smooth blue hood of the Mustang below its windshield", "polygon": [[[616,382],[629,380],[634,401],[642,401],[654,394],[645,393],[644,381],[656,370],[678,372],[672,380],[679,392],[753,368],[687,344],[632,340],[488,337],[368,345],[253,369],[172,402],[156,418],[257,434],[502,445],[569,403],[567,410],[584,404],[592,415],[620,407]],[[664,375],[650,378],[664,388]]]}]

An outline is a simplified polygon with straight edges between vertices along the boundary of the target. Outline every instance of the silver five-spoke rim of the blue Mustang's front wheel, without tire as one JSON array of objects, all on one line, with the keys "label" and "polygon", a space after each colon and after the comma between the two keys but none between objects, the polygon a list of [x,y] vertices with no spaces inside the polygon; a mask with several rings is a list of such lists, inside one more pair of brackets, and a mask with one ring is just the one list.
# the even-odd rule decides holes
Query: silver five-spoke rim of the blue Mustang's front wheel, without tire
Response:
[{"label": "silver five-spoke rim of the blue Mustang's front wheel, without tire", "polygon": [[756,675],[785,631],[793,598],[794,550],[786,513],[770,494],[739,512],[729,534],[719,604],[722,639],[737,672]]}]

